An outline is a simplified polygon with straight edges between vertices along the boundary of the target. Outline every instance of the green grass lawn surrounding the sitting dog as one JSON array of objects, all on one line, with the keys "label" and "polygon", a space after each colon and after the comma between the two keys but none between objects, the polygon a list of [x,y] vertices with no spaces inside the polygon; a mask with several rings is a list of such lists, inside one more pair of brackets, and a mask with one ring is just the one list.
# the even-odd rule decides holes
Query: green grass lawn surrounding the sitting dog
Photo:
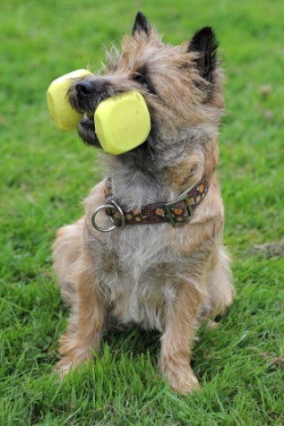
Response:
[{"label": "green grass lawn surrounding the sitting dog", "polygon": [[[101,358],[63,383],[52,374],[67,310],[51,243],[82,215],[99,170],[75,132],[53,127],[45,91],[59,75],[100,67],[101,45],[119,43],[137,7],[170,43],[216,28],[227,75],[217,173],[238,296],[218,329],[201,327],[202,390],[188,397],[156,373],[159,335],[135,328],[106,336]],[[284,424],[284,259],[255,248],[284,236],[283,15],[282,0],[2,0],[1,425]]]}]

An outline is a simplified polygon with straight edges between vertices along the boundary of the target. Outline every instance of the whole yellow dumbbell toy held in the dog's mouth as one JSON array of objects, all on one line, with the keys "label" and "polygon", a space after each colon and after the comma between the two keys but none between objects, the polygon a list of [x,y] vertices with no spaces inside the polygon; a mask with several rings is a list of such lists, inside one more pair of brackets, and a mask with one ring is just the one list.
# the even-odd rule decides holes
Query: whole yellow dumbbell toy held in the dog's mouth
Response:
[{"label": "whole yellow dumbbell toy held in the dog's mouth", "polygon": [[[72,80],[91,75],[77,69],[54,80],[47,91],[47,105],[55,125],[75,130],[83,119],[70,105],[67,94]],[[151,130],[146,101],[138,91],[127,91],[100,102],[94,114],[95,131],[107,154],[122,154],[143,144]]]}]

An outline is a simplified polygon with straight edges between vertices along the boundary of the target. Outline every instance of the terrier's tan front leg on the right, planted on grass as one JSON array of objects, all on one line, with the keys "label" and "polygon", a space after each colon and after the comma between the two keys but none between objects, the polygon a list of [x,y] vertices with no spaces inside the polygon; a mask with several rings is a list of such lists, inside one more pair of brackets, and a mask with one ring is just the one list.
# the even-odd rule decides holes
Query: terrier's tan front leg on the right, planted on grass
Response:
[{"label": "terrier's tan front leg on the right, planted on grass", "polygon": [[198,315],[204,293],[190,281],[184,281],[179,288],[177,299],[166,314],[162,334],[160,367],[170,387],[180,393],[198,388],[199,383],[189,364]]}]

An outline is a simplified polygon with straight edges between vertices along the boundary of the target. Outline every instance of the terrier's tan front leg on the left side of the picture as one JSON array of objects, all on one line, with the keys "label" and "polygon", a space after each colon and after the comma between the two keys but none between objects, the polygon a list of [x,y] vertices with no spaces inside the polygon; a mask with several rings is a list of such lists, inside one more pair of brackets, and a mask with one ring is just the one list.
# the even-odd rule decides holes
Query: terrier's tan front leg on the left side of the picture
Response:
[{"label": "terrier's tan front leg on the left side of the picture", "polygon": [[60,339],[59,352],[63,358],[56,366],[60,375],[91,359],[100,349],[107,308],[90,264],[89,268],[86,266],[77,275],[77,304],[68,320],[67,332]]}]

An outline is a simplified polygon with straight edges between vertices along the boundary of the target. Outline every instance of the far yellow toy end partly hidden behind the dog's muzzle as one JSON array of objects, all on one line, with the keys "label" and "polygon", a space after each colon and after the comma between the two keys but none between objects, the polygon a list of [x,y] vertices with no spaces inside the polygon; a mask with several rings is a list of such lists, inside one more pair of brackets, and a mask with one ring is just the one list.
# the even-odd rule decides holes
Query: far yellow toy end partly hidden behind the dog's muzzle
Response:
[{"label": "far yellow toy end partly hidden behind the dog's muzzle", "polygon": [[76,129],[83,118],[83,114],[77,113],[69,104],[67,94],[72,80],[84,75],[91,75],[91,72],[86,69],[77,69],[57,78],[48,88],[47,105],[56,127],[61,130]]}]

